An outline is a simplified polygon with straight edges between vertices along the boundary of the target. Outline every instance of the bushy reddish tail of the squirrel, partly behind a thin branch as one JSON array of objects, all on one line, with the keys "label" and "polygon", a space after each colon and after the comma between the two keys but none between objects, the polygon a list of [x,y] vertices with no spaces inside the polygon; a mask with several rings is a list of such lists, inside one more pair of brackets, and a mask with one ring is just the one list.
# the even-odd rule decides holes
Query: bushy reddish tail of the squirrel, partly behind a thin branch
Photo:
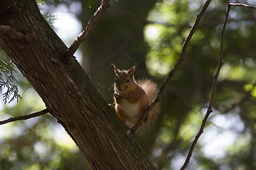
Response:
[{"label": "bushy reddish tail of the squirrel, partly behind a thin branch", "polygon": [[[157,85],[149,80],[149,79],[143,79],[138,82],[139,86],[142,87],[142,89],[145,91],[146,95],[149,98],[149,105],[154,101],[154,98],[156,97],[156,94],[158,93]],[[159,103],[154,106],[154,108],[151,109],[149,112],[148,118],[146,120],[146,123],[142,123],[142,126],[137,130],[138,134],[144,133],[145,131],[150,130],[152,125],[154,125],[155,121],[157,120],[157,116],[159,114]]]}]

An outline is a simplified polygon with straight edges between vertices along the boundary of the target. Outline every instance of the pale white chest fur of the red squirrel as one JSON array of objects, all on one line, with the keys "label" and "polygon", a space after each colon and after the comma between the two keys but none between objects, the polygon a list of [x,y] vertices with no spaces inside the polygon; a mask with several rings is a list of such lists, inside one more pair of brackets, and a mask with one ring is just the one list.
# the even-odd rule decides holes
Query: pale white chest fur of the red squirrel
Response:
[{"label": "pale white chest fur of the red squirrel", "polygon": [[125,117],[130,123],[137,122],[137,116],[139,115],[139,103],[130,103],[124,98],[122,103],[119,104],[119,107],[122,109]]}]

